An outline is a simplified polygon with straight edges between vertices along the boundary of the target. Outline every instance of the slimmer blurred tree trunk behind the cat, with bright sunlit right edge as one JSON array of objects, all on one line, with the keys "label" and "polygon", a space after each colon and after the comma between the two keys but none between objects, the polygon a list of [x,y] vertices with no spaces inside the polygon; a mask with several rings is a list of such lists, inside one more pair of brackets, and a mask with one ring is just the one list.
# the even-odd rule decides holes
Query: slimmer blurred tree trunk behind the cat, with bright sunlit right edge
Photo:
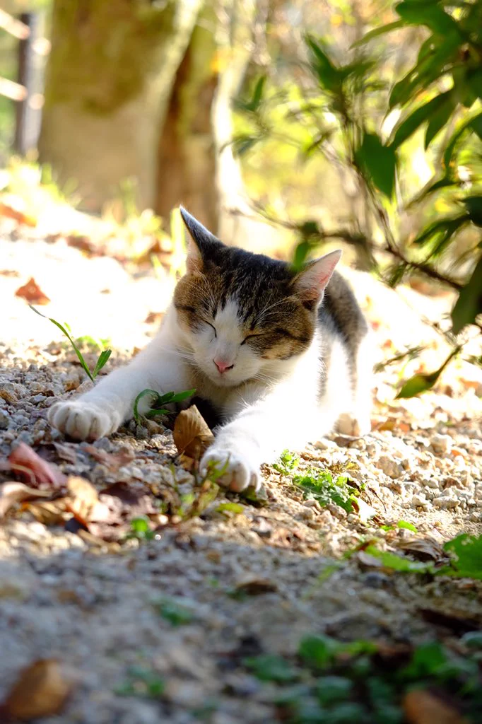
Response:
[{"label": "slimmer blurred tree trunk behind the cat, with bright sunlit right edge", "polygon": [[268,4],[206,3],[177,71],[158,146],[157,213],[165,219],[183,203],[224,241],[245,246],[260,228],[245,217],[253,212],[232,152],[232,103],[260,28],[264,35]]}]

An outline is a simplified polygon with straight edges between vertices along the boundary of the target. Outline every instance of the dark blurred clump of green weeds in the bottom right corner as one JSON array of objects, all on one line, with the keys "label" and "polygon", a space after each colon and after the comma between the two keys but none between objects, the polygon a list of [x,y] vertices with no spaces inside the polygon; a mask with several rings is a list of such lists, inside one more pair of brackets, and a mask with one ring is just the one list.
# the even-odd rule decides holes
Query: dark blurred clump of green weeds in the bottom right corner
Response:
[{"label": "dark blurred clump of green weeds in the bottom right corner", "polygon": [[271,683],[269,696],[287,724],[402,724],[402,702],[414,686],[444,691],[468,721],[478,722],[482,693],[477,654],[482,637],[478,632],[470,636],[462,639],[468,649],[465,657],[437,641],[412,652],[394,650],[390,657],[380,654],[372,641],[305,636],[295,657],[261,654],[245,659],[243,665],[260,681]]}]

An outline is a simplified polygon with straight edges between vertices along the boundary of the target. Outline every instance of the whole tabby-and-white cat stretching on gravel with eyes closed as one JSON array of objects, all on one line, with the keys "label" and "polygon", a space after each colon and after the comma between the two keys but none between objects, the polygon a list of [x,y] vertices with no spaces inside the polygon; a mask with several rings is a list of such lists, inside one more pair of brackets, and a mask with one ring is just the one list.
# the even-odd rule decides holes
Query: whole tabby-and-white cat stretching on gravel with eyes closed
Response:
[{"label": "whole tabby-and-white cat stretching on gravel with eyes closed", "polygon": [[74,439],[98,439],[132,417],[141,390],[195,388],[221,419],[200,472],[218,466],[221,484],[238,492],[258,489],[262,463],[336,425],[369,432],[368,325],[335,271],[342,252],[295,273],[284,261],[224,245],[181,214],[187,271],[157,336],[92,390],[55,403],[50,423]]}]

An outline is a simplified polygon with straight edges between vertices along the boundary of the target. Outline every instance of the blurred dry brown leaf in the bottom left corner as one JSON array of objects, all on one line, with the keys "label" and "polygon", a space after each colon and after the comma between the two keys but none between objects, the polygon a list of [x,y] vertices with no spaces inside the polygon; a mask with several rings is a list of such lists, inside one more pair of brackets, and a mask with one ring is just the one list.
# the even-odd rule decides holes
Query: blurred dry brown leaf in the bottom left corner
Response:
[{"label": "blurred dry brown leaf in the bottom left corner", "polygon": [[22,672],[7,694],[3,710],[10,717],[29,721],[58,714],[72,689],[56,659],[39,659]]}]

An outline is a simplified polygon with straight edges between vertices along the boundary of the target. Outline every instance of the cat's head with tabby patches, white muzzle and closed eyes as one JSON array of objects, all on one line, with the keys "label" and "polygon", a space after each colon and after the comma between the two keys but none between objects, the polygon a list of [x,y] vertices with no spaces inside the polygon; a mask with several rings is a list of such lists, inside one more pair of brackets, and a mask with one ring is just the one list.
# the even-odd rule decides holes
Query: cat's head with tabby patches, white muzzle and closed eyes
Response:
[{"label": "cat's head with tabby patches, white muzzle and closed eyes", "polygon": [[220,387],[266,379],[308,349],[341,251],[295,274],[284,261],[224,245],[181,214],[190,239],[174,308],[196,365]]}]

